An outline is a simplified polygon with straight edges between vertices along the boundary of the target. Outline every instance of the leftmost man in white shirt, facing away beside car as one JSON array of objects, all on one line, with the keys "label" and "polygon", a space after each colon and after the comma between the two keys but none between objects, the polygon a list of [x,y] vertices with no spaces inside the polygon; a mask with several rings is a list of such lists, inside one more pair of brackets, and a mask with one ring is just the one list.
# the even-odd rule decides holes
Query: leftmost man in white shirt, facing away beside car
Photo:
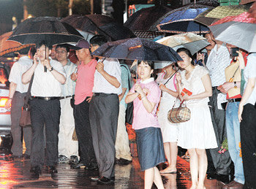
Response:
[{"label": "leftmost man in white shirt, facing away beside car", "polygon": [[[20,59],[18,62],[15,62],[12,66],[9,81],[10,81],[10,92],[9,100],[5,104],[5,108],[11,109],[11,132],[12,132],[12,155],[11,158],[21,158],[22,155],[24,158],[29,159],[31,153],[31,127],[20,127],[20,115],[22,107],[24,105],[24,98],[26,92],[29,88],[29,83],[24,85],[21,82],[21,77],[24,72],[26,72],[32,65],[33,61],[29,58],[30,47],[23,48],[18,53]],[[23,144],[20,140],[21,131],[23,129],[24,142],[26,144],[26,152],[23,153]]]}]

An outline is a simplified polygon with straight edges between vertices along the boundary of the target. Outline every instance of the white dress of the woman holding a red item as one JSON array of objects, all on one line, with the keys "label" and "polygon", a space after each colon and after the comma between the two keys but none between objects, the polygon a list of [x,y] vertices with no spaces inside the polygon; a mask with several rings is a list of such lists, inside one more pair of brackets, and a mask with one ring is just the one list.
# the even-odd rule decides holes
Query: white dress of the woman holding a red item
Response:
[{"label": "white dress of the woman holding a red item", "polygon": [[[186,71],[181,72],[182,88],[191,91],[192,95],[203,93],[205,88],[201,78],[208,74],[208,70],[203,66],[195,66],[188,80],[186,80],[185,73]],[[191,118],[189,121],[179,124],[178,146],[185,149],[217,147],[208,101],[208,97],[186,101],[186,105],[191,111]]]}]

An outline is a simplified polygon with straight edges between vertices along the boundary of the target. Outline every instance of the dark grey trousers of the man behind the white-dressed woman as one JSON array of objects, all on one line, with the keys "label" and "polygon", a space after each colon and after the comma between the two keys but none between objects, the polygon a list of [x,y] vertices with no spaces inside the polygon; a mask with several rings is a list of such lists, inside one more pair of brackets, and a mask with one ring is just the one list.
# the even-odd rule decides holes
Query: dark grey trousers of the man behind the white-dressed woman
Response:
[{"label": "dark grey trousers of the man behind the white-dressed woman", "polygon": [[225,126],[225,110],[218,109],[217,96],[220,93],[217,88],[213,88],[212,96],[210,97],[209,106],[211,112],[211,120],[214,126],[214,132],[217,139],[218,147],[214,149],[209,149],[211,153],[212,161],[214,162],[214,167],[218,174],[228,175],[230,173],[230,153],[228,150],[225,153],[218,153],[221,148],[222,142],[227,139],[227,128]]}]

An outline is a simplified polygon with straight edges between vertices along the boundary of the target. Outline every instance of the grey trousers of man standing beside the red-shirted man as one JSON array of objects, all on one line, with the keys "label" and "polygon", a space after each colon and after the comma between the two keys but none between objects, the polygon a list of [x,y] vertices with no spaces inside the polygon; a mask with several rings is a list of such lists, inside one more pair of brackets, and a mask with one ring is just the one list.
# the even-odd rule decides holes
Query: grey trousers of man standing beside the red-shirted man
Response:
[{"label": "grey trousers of man standing beside the red-shirted man", "polygon": [[100,177],[114,177],[119,100],[116,94],[93,96],[90,101],[91,136]]}]

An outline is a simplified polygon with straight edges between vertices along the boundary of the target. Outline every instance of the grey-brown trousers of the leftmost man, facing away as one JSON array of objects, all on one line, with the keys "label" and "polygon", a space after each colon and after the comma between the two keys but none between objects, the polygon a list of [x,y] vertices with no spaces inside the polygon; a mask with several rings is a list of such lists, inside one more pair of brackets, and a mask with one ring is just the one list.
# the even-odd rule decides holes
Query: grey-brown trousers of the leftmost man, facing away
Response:
[{"label": "grey-brown trousers of the leftmost man, facing away", "polygon": [[12,98],[12,108],[11,108],[11,132],[12,132],[12,154],[13,155],[22,155],[23,145],[22,145],[22,136],[21,131],[23,129],[24,141],[26,144],[25,154],[30,155],[31,153],[31,127],[20,127],[20,115],[22,107],[24,105],[24,97],[26,93],[15,92]]}]

